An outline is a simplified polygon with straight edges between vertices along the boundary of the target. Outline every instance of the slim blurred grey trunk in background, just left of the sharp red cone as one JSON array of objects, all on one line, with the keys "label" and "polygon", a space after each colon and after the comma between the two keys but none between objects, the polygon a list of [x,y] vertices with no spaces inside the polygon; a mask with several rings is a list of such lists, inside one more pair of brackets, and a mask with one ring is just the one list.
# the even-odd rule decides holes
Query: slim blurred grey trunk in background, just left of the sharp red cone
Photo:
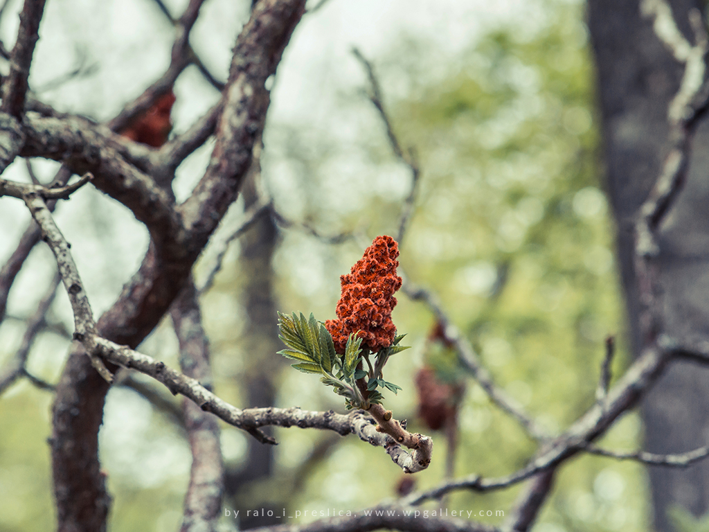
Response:
[{"label": "slim blurred grey trunk in background, just left of the sharp red cone", "polygon": [[[255,153],[254,165],[241,191],[245,209],[257,204],[259,199],[259,170]],[[242,305],[248,320],[242,338],[245,353],[245,375],[242,382],[246,387],[245,402],[250,407],[274,406],[277,393],[274,380],[277,379],[283,360],[281,355],[276,354],[280,348],[273,287],[274,273],[271,266],[277,236],[278,229],[270,211],[264,211],[254,226],[240,238],[240,270],[244,283]],[[264,428],[264,432],[271,434],[272,428]],[[274,446],[262,445],[254,438],[249,438],[244,467],[239,471],[227,472],[226,475],[227,491],[229,496],[233,497],[236,509],[273,509],[274,514],[281,515],[282,509],[275,508],[274,501],[254,502],[245,499],[249,497],[250,487],[253,487],[255,482],[266,480],[272,474],[273,465]],[[277,522],[277,519],[268,516],[244,516],[240,520],[240,528],[269,526]]]}]

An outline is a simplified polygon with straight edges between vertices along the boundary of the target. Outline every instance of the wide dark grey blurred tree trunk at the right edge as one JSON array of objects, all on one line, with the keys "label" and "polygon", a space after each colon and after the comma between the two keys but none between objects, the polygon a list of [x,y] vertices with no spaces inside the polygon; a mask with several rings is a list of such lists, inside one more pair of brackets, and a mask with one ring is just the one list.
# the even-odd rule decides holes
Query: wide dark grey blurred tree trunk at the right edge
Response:
[{"label": "wide dark grey blurred tree trunk at the right edge", "polygon": [[[702,5],[669,0],[674,18],[693,43],[688,11]],[[678,65],[640,16],[639,0],[588,0],[588,26],[596,55],[598,103],[603,122],[607,190],[618,226],[618,266],[625,289],[635,353],[642,345],[640,304],[633,274],[633,223],[660,172],[669,143],[667,106],[679,87]],[[709,333],[709,131],[694,140],[686,188],[661,233],[664,330],[677,338]],[[709,440],[709,372],[675,363],[642,405],[645,448],[676,453]],[[679,506],[695,516],[709,503],[709,462],[686,470],[649,469],[654,527],[670,531],[667,511]]]}]

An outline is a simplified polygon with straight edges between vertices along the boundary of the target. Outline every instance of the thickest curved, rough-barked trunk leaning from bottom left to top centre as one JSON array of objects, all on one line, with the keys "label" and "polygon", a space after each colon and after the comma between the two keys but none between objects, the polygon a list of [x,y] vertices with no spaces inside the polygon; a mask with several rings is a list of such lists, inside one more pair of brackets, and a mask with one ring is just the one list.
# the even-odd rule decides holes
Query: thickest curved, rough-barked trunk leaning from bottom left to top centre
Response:
[{"label": "thickest curved, rough-barked trunk leaning from bottom left to top centre", "polygon": [[[138,272],[97,323],[104,338],[119,345],[137,346],[155,328],[184,287],[194,261],[234,201],[240,180],[250,164],[252,139],[259,133],[263,119],[255,115],[263,114],[264,104],[267,104],[263,101],[264,89],[260,87],[275,69],[300,19],[303,4],[304,0],[263,0],[242,30],[235,48],[237,67],[232,70],[230,88],[223,94],[225,111],[218,121],[217,151],[212,158],[216,162],[223,157],[230,170],[221,172],[213,167],[214,170],[208,171],[208,186],[198,187],[193,199],[188,200],[189,209],[183,206],[177,213],[186,226],[175,233],[166,233],[165,238],[172,238],[169,245],[168,242],[150,245]],[[148,92],[157,97],[158,89],[168,90],[177,70],[167,72]],[[248,80],[254,84],[248,84]],[[151,103],[150,94],[143,99],[139,97],[136,104],[124,108],[111,126],[114,129],[125,127],[132,116],[145,111]],[[243,116],[252,118],[242,121]],[[259,126],[254,129],[256,123]],[[235,161],[237,165],[233,165]],[[220,165],[218,168],[226,170]],[[203,178],[203,185],[204,181]],[[105,526],[109,499],[105,477],[101,474],[96,435],[107,391],[108,385],[96,378],[85,356],[75,350],[67,361],[53,406],[52,472],[58,528],[62,531],[89,532]],[[76,448],[82,448],[84,453],[79,456],[72,452]]]}]

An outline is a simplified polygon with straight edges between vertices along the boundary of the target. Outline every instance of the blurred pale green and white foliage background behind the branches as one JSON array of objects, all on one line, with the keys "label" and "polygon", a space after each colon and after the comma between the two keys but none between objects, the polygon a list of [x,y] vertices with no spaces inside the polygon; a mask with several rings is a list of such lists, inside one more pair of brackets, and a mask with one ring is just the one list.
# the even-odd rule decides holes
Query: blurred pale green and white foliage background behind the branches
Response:
[{"label": "blurred pale green and white foliage background behind the branches", "polygon": [[[186,1],[164,4],[177,16]],[[6,44],[16,35],[20,6],[11,0],[1,18]],[[247,1],[210,0],[203,7],[191,43],[219,79],[227,75],[230,49],[249,10]],[[113,116],[162,74],[174,37],[154,0],[49,1],[40,36],[31,87],[57,109],[97,120]],[[437,294],[506,392],[549,431],[562,430],[594,401],[606,336],[616,336],[615,372],[627,363],[615,230],[600,182],[593,64],[578,0],[328,0],[303,18],[274,79],[258,192],[234,206],[196,267],[200,284],[223,240],[259,197],[273,199],[292,222],[274,229],[269,250],[259,248],[253,235],[231,243],[215,284],[201,299],[216,391],[237,406],[247,406],[261,390],[277,406],[345,411],[316,377],[291,370],[275,353],[278,345],[253,336],[263,327],[272,331],[275,315],[273,323],[255,323],[250,309],[266,286],[260,293],[271,294],[276,309],[333,318],[339,276],[374,236],[398,230],[411,172],[393,155],[354,46],[372,60],[401,144],[418,154],[420,183],[401,243],[401,272]],[[218,99],[193,67],[174,92],[176,132]],[[210,151],[208,143],[179,168],[178,199],[189,194]],[[33,165],[45,180],[57,168],[39,160]],[[8,176],[28,180],[23,163]],[[56,216],[99,316],[138,267],[147,232],[123,206],[90,187],[60,204]],[[0,260],[28,221],[20,201],[0,199]],[[321,235],[357,238],[333,244],[303,224]],[[265,260],[265,277],[259,277],[264,270],[258,260]],[[48,249],[35,249],[0,327],[0,363],[20,343],[53,269]],[[415,374],[428,365],[441,379],[453,375],[465,386],[454,474],[496,476],[522,466],[534,443],[474,381],[462,378],[443,346],[428,339],[435,327],[430,310],[403,294],[398,299],[394,322],[413,348],[387,366],[387,378],[403,391],[387,394],[386,405],[408,419],[409,428],[430,432],[417,419]],[[30,354],[29,369],[56,382],[72,328],[64,294],[53,304],[50,322]],[[163,323],[140,350],[177,366],[171,327]],[[265,353],[258,348],[264,345]],[[135,381],[152,384],[139,376]],[[101,458],[114,497],[113,532],[179,526],[191,456],[169,414],[177,401],[160,398],[167,404],[120,386],[108,395]],[[50,392],[26,380],[0,397],[2,531],[54,526],[46,443],[51,401]],[[239,486],[226,508],[286,509],[293,515],[354,511],[397,497],[403,474],[381,449],[318,431],[279,429],[275,435],[280,445],[264,455],[244,433],[223,426],[230,479]],[[432,465],[413,477],[418,489],[450,474],[445,433],[433,436]],[[631,413],[605,443],[630,450],[640,436],[640,420]],[[457,493],[446,504],[494,514],[507,511],[517,493]],[[642,531],[647,499],[644,467],[576,458],[559,472],[535,530]]]}]

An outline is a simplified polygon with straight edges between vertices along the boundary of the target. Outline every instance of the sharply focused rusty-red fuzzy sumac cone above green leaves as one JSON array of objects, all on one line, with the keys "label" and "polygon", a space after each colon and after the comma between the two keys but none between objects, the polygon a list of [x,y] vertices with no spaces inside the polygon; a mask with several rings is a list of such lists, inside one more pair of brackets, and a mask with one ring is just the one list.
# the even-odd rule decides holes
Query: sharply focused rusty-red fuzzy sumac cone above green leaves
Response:
[{"label": "sharply focused rusty-red fuzzy sumac cone above green leaves", "polygon": [[391,236],[378,236],[350,273],[340,277],[342,296],[337,302],[338,319],[325,321],[337,353],[345,353],[347,338],[357,331],[362,346],[372,353],[393,343],[396,336],[396,327],[391,321],[391,310],[396,306],[393,294],[401,288],[401,277],[396,275],[396,257],[396,241]]}]

